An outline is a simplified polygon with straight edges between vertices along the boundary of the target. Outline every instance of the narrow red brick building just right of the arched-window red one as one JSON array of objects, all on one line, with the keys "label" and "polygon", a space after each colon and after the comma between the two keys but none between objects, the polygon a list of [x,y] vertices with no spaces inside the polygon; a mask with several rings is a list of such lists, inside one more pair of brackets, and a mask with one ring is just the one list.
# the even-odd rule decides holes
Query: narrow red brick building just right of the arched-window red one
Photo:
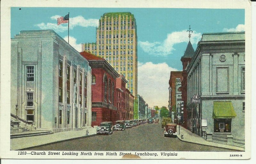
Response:
[{"label": "narrow red brick building just right of the arched-window red one", "polygon": [[126,110],[126,88],[125,85],[127,80],[124,75],[120,75],[116,78],[116,107],[117,107],[117,120],[126,120],[127,110]]}]

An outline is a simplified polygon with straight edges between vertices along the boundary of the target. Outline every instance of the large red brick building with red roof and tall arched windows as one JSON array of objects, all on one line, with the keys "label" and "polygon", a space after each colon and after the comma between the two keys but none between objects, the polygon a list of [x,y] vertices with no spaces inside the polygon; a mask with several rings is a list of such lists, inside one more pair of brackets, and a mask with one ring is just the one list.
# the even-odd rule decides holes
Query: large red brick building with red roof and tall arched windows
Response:
[{"label": "large red brick building with red roof and tall arched windows", "polygon": [[92,126],[99,126],[104,121],[116,122],[116,80],[119,74],[105,59],[85,51],[80,54],[92,68]]}]

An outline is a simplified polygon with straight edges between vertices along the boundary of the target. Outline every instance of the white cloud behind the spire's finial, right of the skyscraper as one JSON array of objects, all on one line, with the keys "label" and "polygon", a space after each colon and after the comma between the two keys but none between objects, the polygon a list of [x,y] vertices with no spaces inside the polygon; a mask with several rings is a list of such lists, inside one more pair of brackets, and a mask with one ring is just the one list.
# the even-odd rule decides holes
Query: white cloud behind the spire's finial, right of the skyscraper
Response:
[{"label": "white cloud behind the spire's finial, right of the skyscraper", "polygon": [[[191,44],[197,43],[202,37],[201,33],[196,33],[194,31],[191,34],[190,42]],[[139,46],[148,54],[156,56],[167,56],[172,54],[174,44],[181,42],[188,42],[188,32],[187,30],[175,31],[171,34],[167,34],[167,38],[162,42],[149,42],[149,41],[138,41]]]}]

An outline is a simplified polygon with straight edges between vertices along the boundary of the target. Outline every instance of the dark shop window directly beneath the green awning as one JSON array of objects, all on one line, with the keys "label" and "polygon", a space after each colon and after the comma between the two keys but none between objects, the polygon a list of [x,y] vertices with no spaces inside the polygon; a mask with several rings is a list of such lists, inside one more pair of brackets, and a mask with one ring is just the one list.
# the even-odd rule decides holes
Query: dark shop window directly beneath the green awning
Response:
[{"label": "dark shop window directly beneath the green awning", "polygon": [[214,132],[231,133],[231,118],[228,119],[214,119]]}]

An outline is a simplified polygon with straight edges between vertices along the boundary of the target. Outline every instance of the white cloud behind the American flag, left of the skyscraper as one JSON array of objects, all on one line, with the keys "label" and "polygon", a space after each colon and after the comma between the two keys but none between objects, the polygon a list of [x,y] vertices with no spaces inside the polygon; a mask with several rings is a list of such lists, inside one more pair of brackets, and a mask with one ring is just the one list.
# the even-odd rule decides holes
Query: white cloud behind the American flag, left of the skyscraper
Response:
[{"label": "white cloud behind the American flag, left of the skyscraper", "polygon": [[[68,24],[61,24],[57,25],[57,18],[60,18],[60,15],[54,15],[51,17],[52,20],[56,20],[56,23],[39,23],[35,26],[39,27],[42,30],[54,30],[56,32],[64,32],[68,30]],[[96,27],[98,26],[99,20],[98,19],[84,19],[82,16],[76,16],[73,18],[69,18],[69,29],[73,29],[76,26],[82,26],[82,27]]]}]

